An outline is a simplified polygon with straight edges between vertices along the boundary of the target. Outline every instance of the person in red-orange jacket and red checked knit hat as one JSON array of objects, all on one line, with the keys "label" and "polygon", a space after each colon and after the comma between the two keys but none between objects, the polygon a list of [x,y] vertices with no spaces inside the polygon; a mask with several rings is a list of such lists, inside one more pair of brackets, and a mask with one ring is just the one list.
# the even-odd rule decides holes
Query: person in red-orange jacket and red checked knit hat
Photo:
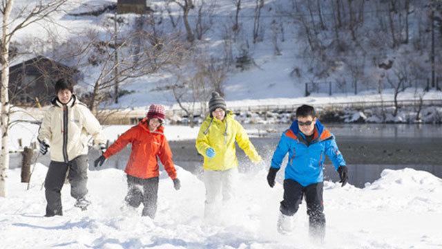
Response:
[{"label": "person in red-orange jacket and red checked knit hat", "polygon": [[134,208],[143,203],[142,216],[149,216],[152,219],[157,212],[158,176],[160,176],[157,158],[160,158],[164,169],[172,178],[175,190],[179,190],[181,186],[173,166],[171,148],[164,136],[162,122],[164,122],[164,107],[151,104],[147,118],[119,136],[94,162],[95,167],[103,165],[106,158],[117,154],[130,142],[131,156],[124,169],[127,174],[128,193],[124,200]]}]

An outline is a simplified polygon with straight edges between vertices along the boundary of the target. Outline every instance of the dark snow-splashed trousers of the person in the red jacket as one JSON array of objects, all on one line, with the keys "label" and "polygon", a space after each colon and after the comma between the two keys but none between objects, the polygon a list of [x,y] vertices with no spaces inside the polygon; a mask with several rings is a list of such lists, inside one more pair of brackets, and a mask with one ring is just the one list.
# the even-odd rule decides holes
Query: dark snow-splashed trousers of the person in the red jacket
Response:
[{"label": "dark snow-splashed trousers of the person in the red jacket", "polygon": [[142,216],[154,219],[157,212],[158,181],[158,177],[143,179],[127,175],[128,193],[124,200],[134,208],[143,203]]}]

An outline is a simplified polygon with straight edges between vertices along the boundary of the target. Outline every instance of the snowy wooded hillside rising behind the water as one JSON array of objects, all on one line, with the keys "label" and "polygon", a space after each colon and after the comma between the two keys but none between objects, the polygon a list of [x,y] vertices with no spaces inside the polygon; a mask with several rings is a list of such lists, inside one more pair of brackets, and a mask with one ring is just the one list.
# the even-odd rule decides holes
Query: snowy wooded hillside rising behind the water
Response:
[{"label": "snowy wooded hillside rising behind the water", "polygon": [[[114,11],[111,8],[115,7],[116,2],[68,1],[62,7],[63,11],[51,15],[53,23],[32,24],[19,30],[12,39],[12,46],[26,56],[13,58],[12,64],[20,62],[23,57],[38,54],[69,66],[77,66],[82,75],[76,91],[81,94],[90,91],[95,82],[99,81],[99,74],[104,67],[100,64],[88,64],[88,60],[92,58],[99,62],[100,56],[104,56],[99,53],[110,53],[111,50],[102,48],[104,52],[99,52],[98,49],[77,57],[69,55],[74,55],[75,49],[81,48],[81,43],[93,37],[99,37],[102,42],[108,41],[114,25]],[[407,73],[403,77],[407,77],[408,93],[399,93],[400,100],[419,100],[419,95],[423,99],[442,98],[440,91],[432,93],[434,87],[430,89],[430,93],[423,92],[431,68],[427,55],[427,51],[430,50],[430,33],[425,29],[428,26],[428,6],[419,1],[413,1],[410,6],[404,6],[402,1],[397,2],[394,8],[398,12],[390,13],[394,21],[391,28],[397,29],[394,30],[397,39],[405,39],[401,35],[405,33],[405,19],[401,18],[401,13],[405,11],[404,8],[410,8],[410,15],[407,15],[410,26],[406,26],[407,43],[403,42],[401,45],[392,44],[396,42],[394,37],[392,39],[388,37],[389,34],[382,33],[385,30],[390,32],[387,10],[393,8],[387,1],[354,1],[354,9],[349,9],[351,5],[335,6],[336,3],[327,1],[311,1],[308,4],[305,1],[264,1],[260,8],[260,28],[256,33],[256,43],[253,43],[253,27],[258,1],[241,1],[239,28],[235,32],[232,30],[236,15],[234,2],[205,1],[206,5],[202,6],[202,1],[196,0],[195,9],[189,13],[189,23],[195,32],[198,21],[197,8],[202,6],[202,10],[206,11],[202,12],[202,25],[206,27],[206,31],[202,39],[195,39],[193,42],[189,50],[194,56],[192,58],[202,60],[208,68],[220,68],[223,62],[229,62],[227,66],[224,64],[226,74],[222,91],[231,107],[380,99],[391,101],[394,92],[385,89],[395,86],[397,77],[403,72]],[[321,6],[318,6],[319,3]],[[17,1],[17,10],[24,5],[26,1]],[[186,30],[180,6],[162,0],[148,1],[148,6],[155,10],[152,15],[156,25],[155,32],[164,36],[180,34],[180,41],[189,48],[189,44],[185,45]],[[336,8],[339,8],[340,14],[337,14]],[[309,11],[310,14],[307,15]],[[349,15],[352,12],[354,17]],[[436,15],[439,15],[438,13],[436,12]],[[141,20],[138,15],[133,14],[119,15],[118,18],[117,29],[122,32],[120,37],[130,33],[136,28],[137,21]],[[354,30],[351,29],[352,26],[345,25],[355,21],[352,18],[358,19],[358,25]],[[336,21],[344,22],[339,30],[334,30]],[[143,25],[151,32],[151,26],[146,23]],[[311,37],[309,32],[313,30],[316,31],[316,35]],[[422,33],[422,30],[425,32]],[[436,35],[440,35],[437,32],[438,30]],[[436,48],[441,46],[438,41],[436,39]],[[316,46],[320,50],[315,50]],[[242,55],[249,55],[253,59],[253,63],[244,71],[236,67],[236,59]],[[394,67],[390,71],[378,67],[388,63],[389,59],[394,60]],[[439,55],[436,56],[437,59],[440,59]],[[186,71],[181,76],[194,73],[195,67],[190,64],[191,62],[181,64]],[[436,75],[440,73],[439,67],[436,66]],[[155,73],[125,80],[120,89],[130,94],[119,98],[118,104],[107,107],[146,108],[155,102],[164,104],[169,109],[180,109],[171,91],[167,90],[177,80],[177,75],[171,73],[172,71],[166,67]],[[389,81],[393,85],[389,84]],[[306,98],[305,84],[309,84],[308,91],[311,94]],[[332,84],[333,89],[331,97],[328,96],[329,84]],[[358,89],[357,95],[354,94],[355,88]],[[107,89],[110,91],[109,87]],[[379,89],[384,91],[380,94]],[[339,100],[336,101],[335,98]]]}]

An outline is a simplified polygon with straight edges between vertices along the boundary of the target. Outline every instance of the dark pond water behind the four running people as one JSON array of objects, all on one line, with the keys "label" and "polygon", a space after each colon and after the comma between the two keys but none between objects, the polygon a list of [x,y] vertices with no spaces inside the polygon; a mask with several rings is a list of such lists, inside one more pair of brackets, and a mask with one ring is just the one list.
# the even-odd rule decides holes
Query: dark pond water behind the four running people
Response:
[{"label": "dark pond water behind the four running people", "polygon": [[[442,125],[432,124],[326,124],[336,136],[336,142],[349,167],[349,183],[364,187],[365,183],[376,181],[383,169],[403,169],[410,167],[425,170],[442,178]],[[246,125],[251,142],[258,153],[270,165],[273,151],[278,145],[282,131],[289,124]],[[195,140],[169,142],[173,151],[173,161],[193,174],[202,172],[202,156],[195,149]],[[124,169],[131,152],[130,145],[119,154],[108,158],[103,167]],[[98,152],[90,149],[88,158],[90,170]],[[256,167],[237,146],[240,172],[256,170]],[[48,155],[40,156],[39,162],[49,165]],[[11,155],[11,167],[19,167],[21,156]],[[287,163],[287,158],[282,165]],[[332,163],[325,161],[324,176],[326,180],[338,181],[338,173]],[[278,181],[282,181],[283,170],[278,172]]]}]

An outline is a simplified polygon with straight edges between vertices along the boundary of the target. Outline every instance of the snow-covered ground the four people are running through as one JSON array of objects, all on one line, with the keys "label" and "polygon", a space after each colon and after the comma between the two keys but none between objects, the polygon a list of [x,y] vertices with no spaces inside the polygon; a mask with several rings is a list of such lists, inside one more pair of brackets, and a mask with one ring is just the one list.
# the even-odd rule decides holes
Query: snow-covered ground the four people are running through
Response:
[{"label": "snow-covered ground the four people are running through", "polygon": [[[1,248],[441,248],[442,179],[414,169],[385,169],[363,189],[325,182],[327,235],[310,241],[305,203],[294,233],[276,232],[282,185],[271,189],[267,172],[240,174],[238,201],[218,222],[202,219],[204,183],[177,167],[182,188],[162,172],[155,220],[138,210],[121,210],[126,176],[119,169],[88,172],[93,204],[73,207],[70,186],[61,192],[64,216],[44,217],[41,190],[47,167],[38,164],[27,183],[10,172],[10,196],[0,198]],[[282,174],[282,172],[278,172]]]}]

